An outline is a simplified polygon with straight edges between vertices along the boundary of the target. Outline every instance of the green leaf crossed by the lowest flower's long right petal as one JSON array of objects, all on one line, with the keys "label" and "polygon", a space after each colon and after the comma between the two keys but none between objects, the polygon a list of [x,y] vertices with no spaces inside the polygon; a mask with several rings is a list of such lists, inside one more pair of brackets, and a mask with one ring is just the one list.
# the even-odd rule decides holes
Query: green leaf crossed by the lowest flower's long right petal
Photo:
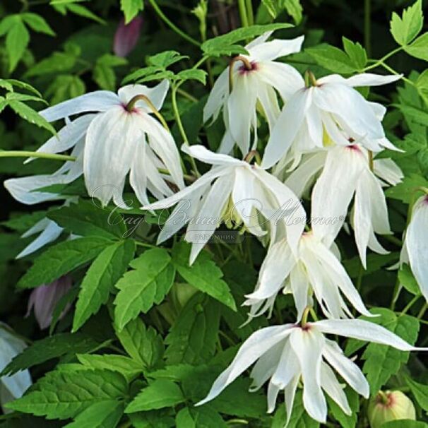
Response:
[{"label": "green leaf crossed by the lowest flower's long right petal", "polygon": [[[419,320],[413,316],[404,314],[397,316],[393,311],[386,308],[371,309],[373,314],[379,314],[370,318],[370,321],[396,333],[400,338],[414,345],[419,332]],[[365,360],[363,371],[367,374],[372,394],[377,393],[382,386],[398,373],[402,364],[408,362],[410,352],[396,350],[393,347],[369,343],[362,355]]]}]

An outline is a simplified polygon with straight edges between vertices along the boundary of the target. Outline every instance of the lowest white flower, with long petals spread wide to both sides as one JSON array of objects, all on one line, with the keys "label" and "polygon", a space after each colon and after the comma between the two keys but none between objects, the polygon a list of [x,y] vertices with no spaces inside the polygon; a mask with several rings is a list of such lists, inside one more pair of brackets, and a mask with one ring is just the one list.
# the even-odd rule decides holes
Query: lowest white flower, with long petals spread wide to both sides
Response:
[{"label": "lowest white flower, with long petals spread wide to both sides", "polygon": [[280,390],[285,393],[287,424],[290,420],[295,392],[299,381],[303,384],[303,404],[309,415],[321,423],[326,422],[326,393],[347,415],[351,409],[333,369],[357,393],[369,397],[369,384],[357,364],[343,354],[337,343],[324,334],[366,340],[395,347],[398,350],[428,350],[409,345],[386,328],[358,319],[329,319],[314,323],[285,324],[261,328],[239,348],[236,357],[218,376],[208,396],[197,405],[217,397],[251,364],[252,391],[268,384],[268,412],[275,409]]}]

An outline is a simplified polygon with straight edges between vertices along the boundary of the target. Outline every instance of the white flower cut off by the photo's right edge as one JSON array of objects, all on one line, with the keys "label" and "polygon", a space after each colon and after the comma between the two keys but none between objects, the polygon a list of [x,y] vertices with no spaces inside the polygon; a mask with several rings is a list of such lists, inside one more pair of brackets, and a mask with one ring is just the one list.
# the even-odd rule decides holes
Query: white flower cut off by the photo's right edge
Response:
[{"label": "white flower cut off by the photo's right edge", "polygon": [[410,224],[405,232],[403,248],[410,268],[428,301],[428,196],[422,196],[412,210]]}]

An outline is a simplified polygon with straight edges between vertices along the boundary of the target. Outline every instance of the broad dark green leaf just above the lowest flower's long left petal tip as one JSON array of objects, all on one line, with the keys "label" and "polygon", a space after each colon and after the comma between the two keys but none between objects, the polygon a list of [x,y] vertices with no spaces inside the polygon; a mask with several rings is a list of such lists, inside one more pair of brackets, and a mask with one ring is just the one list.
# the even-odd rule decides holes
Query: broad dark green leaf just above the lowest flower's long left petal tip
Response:
[{"label": "broad dark green leaf just above the lowest flower's long left petal tip", "polygon": [[220,311],[215,300],[201,293],[191,297],[165,338],[167,363],[208,361],[215,351],[219,322]]}]

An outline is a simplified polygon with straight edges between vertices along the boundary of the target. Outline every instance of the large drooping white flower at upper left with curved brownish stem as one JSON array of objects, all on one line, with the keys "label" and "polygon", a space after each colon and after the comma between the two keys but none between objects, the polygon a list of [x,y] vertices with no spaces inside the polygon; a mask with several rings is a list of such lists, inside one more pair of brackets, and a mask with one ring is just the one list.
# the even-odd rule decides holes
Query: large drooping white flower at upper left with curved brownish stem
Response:
[{"label": "large drooping white flower at upper left with curved brownish stem", "polygon": [[[103,205],[113,199],[118,206],[125,206],[122,192],[128,173],[141,203],[148,203],[147,190],[156,198],[170,196],[173,192],[165,180],[179,189],[184,187],[179,153],[170,132],[150,116],[153,109],[147,101],[160,109],[168,87],[163,81],[154,88],[127,85],[117,94],[97,90],[49,107],[40,112],[48,121],[85,114],[68,121],[58,136],[37,151],[61,153],[81,144],[80,174],[84,174],[90,196]],[[138,95],[145,99],[138,99]]]}]

